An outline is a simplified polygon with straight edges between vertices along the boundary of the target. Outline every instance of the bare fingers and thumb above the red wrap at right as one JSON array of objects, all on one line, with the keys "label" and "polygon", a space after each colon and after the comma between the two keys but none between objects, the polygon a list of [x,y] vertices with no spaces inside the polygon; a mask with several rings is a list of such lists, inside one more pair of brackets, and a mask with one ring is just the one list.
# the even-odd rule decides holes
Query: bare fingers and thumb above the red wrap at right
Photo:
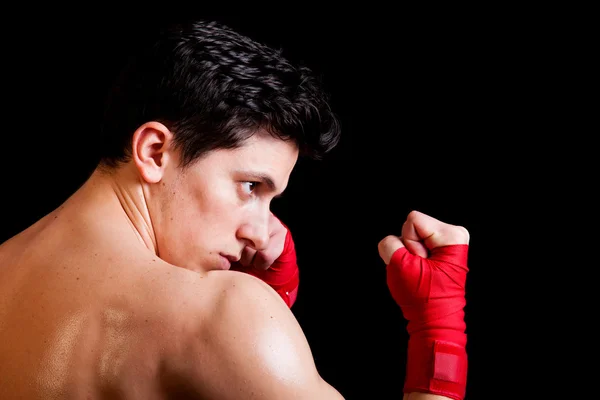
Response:
[{"label": "bare fingers and thumb above the red wrap at right", "polygon": [[469,244],[469,231],[462,226],[450,225],[419,211],[411,211],[402,225],[401,236],[389,235],[377,246],[379,256],[387,265],[394,253],[406,247],[409,253],[428,258],[438,247]]}]

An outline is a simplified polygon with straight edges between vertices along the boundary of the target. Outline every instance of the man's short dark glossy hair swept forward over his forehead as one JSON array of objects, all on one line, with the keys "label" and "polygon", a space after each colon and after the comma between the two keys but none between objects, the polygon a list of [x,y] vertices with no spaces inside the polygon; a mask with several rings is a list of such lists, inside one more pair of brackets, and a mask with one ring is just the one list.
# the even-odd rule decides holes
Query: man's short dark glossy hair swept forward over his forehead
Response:
[{"label": "man's short dark glossy hair swept forward over his forehead", "polygon": [[171,25],[130,58],[109,92],[101,163],[127,161],[133,132],[148,121],[172,130],[183,166],[261,128],[314,159],[340,137],[307,67],[217,22]]}]

